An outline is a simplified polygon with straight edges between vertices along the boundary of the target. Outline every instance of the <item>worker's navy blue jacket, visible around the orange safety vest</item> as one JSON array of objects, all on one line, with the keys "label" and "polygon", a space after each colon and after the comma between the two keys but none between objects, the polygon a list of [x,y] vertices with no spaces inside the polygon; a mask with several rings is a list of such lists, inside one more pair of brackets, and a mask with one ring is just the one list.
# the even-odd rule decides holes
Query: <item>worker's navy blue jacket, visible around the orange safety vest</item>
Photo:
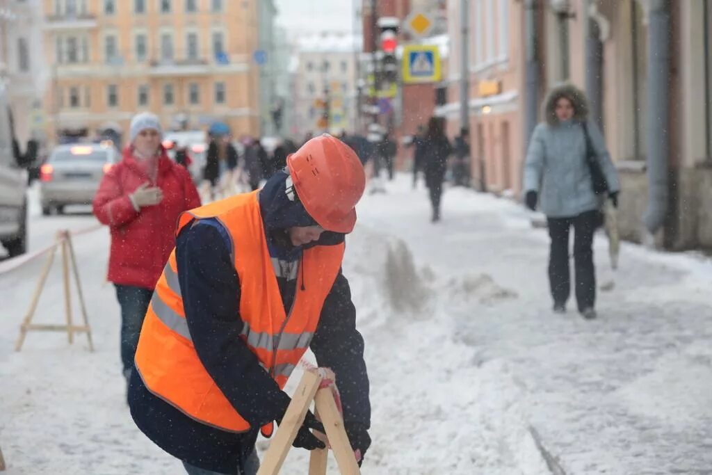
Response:
[{"label": "worker's navy blue jacket, visible around the orange safety vest", "polygon": [[[278,172],[260,194],[270,254],[277,258],[277,280],[286,311],[294,300],[295,268],[303,249],[290,245],[286,229],[312,224],[298,202],[284,194],[286,173]],[[342,234],[325,232],[314,245],[343,242]],[[178,277],[193,344],[206,371],[225,397],[253,427],[281,417],[289,397],[259,365],[239,338],[240,283],[231,261],[229,235],[218,221],[187,225],[176,242]],[[308,287],[308,281],[305,286]],[[310,343],[318,364],[331,367],[347,422],[370,426],[369,383],[363,339],[355,328],[349,283],[340,272],[328,294]],[[133,372],[129,399],[137,426],[159,447],[203,469],[234,473],[253,450],[257,430],[225,432],[187,417],[153,395]]]}]

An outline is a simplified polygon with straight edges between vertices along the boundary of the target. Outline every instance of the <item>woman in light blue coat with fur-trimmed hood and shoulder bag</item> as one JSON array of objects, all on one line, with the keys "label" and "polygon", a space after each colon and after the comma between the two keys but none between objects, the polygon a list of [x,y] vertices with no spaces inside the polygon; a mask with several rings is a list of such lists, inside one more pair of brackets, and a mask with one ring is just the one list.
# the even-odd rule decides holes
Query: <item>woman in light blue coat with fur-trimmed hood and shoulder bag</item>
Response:
[{"label": "woman in light blue coat with fur-trimmed hood and shoulder bag", "polygon": [[[564,313],[570,296],[569,231],[573,226],[576,300],[585,318],[595,318],[596,276],[593,234],[605,194],[594,188],[588,155],[618,206],[618,173],[595,122],[588,118],[584,93],[573,85],[553,89],[544,105],[545,122],[534,129],[524,170],[525,201],[534,210],[540,202],[547,216],[551,249],[549,283],[554,311]],[[590,150],[590,152],[589,152]]]}]

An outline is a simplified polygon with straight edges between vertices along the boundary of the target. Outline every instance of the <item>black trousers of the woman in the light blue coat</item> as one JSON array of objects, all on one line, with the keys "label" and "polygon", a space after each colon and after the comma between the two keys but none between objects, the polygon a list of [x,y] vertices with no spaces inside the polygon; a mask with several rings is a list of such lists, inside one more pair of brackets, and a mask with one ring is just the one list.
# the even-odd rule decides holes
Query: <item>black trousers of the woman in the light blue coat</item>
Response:
[{"label": "black trousers of the woman in the light blue coat", "polygon": [[551,252],[549,284],[555,303],[566,303],[571,293],[569,271],[569,230],[574,227],[574,267],[576,302],[579,311],[596,303],[596,270],[593,264],[593,234],[598,212],[585,212],[572,218],[549,218]]}]

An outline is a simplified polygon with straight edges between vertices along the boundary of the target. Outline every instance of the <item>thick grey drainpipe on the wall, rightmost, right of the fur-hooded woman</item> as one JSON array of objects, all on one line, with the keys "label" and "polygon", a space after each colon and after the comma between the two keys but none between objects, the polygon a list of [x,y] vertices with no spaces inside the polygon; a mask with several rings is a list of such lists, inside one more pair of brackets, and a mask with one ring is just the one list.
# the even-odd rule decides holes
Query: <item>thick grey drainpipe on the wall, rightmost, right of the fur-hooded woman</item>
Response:
[{"label": "thick grey drainpipe on the wall, rightmost, right of the fur-hooded woman", "polygon": [[654,234],[663,226],[668,209],[671,18],[668,0],[648,3],[648,209],[643,222]]}]

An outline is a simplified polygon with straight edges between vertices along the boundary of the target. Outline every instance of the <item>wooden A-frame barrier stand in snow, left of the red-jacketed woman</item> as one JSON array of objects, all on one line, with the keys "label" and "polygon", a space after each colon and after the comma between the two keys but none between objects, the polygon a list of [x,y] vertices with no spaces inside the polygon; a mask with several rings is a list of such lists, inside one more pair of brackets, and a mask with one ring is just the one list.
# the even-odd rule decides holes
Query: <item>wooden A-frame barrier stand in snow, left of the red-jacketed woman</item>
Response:
[{"label": "wooden A-frame barrier stand in snow, left of the red-jacketed woman", "polygon": [[[65,316],[66,316],[66,324],[65,325],[39,325],[36,323],[32,323],[32,318],[35,315],[35,311],[37,310],[37,304],[39,303],[40,296],[42,295],[42,290],[43,290],[44,285],[47,281],[47,276],[49,275],[49,271],[52,268],[54,256],[55,256],[57,249],[59,247],[62,248],[62,280],[63,280],[63,284],[64,284],[64,312],[65,312]],[[69,231],[66,231],[66,230],[58,231],[56,244],[48,252],[49,252],[49,255],[47,256],[47,263],[45,264],[45,267],[43,268],[43,271],[40,274],[40,279],[37,283],[37,288],[35,290],[34,295],[32,296],[30,308],[27,312],[27,315],[25,315],[22,325],[20,326],[20,335],[17,339],[17,343],[15,345],[15,350],[20,351],[22,349],[23,343],[25,342],[25,337],[26,337],[27,333],[29,331],[36,330],[36,331],[61,331],[61,332],[66,331],[67,338],[68,338],[70,344],[74,343],[74,333],[86,333],[88,341],[89,341],[89,350],[93,351],[94,345],[93,345],[92,339],[91,339],[91,328],[89,326],[87,310],[86,310],[86,306],[84,303],[84,295],[82,293],[82,286],[81,286],[81,283],[79,280],[79,270],[77,267],[77,259],[74,254],[74,247],[72,246],[72,239],[69,234]],[[75,283],[77,286],[77,293],[79,296],[79,305],[80,305],[82,318],[83,318],[83,322],[84,322],[83,326],[74,325],[72,323],[72,296],[71,296],[70,266],[71,266],[71,271],[72,271],[72,274],[74,276],[74,280],[75,280]],[[0,456],[0,459],[1,459],[1,456]]]}]

